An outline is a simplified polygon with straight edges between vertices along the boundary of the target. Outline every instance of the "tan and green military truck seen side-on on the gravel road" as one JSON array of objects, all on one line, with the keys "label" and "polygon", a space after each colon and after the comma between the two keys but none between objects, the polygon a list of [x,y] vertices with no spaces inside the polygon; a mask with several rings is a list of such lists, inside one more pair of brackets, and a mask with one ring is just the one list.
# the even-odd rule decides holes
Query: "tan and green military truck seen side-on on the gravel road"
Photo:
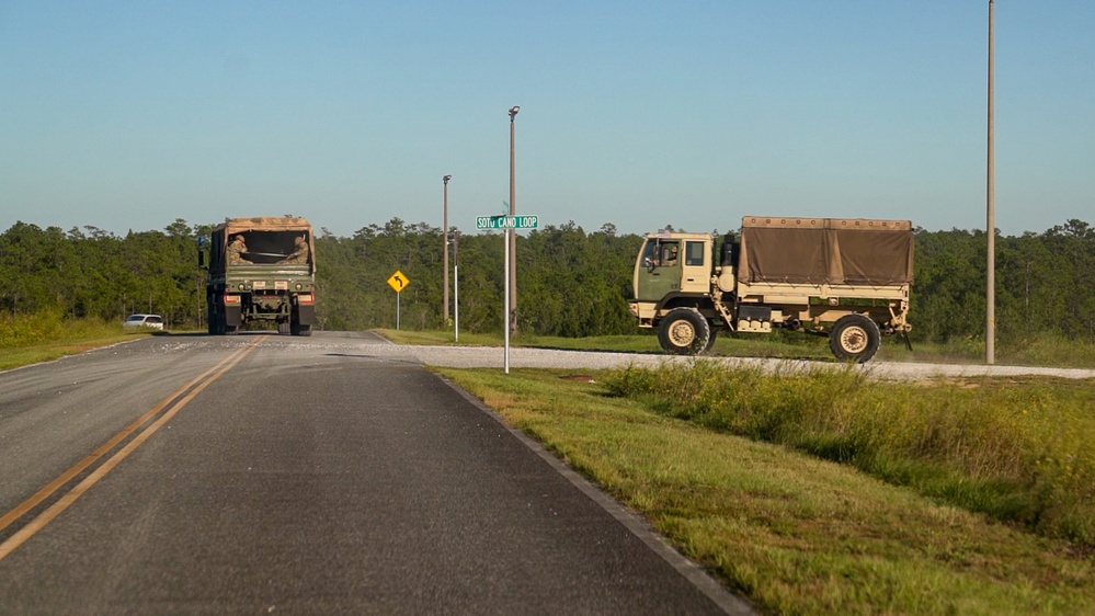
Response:
[{"label": "tan and green military truck seen side-on on the gravel road", "polygon": [[839,360],[867,362],[882,334],[912,329],[909,220],[745,216],[740,241],[708,233],[646,236],[631,315],[675,354],[709,350],[719,330],[774,328],[829,336]]}]

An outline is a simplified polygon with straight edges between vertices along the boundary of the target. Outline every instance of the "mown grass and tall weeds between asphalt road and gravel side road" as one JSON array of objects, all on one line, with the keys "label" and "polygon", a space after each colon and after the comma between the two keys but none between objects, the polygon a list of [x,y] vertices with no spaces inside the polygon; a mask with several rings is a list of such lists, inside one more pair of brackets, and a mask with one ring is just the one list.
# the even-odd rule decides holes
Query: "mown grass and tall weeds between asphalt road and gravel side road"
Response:
[{"label": "mown grass and tall weeds between asphalt road and gravel side road", "polygon": [[1090,381],[437,372],[762,613],[1095,613]]}]

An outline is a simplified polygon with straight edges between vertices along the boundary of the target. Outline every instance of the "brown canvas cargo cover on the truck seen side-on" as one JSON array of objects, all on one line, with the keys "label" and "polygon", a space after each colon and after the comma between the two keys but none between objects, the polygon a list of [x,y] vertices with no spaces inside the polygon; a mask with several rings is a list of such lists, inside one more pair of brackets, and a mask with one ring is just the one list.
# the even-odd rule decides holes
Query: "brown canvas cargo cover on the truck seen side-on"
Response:
[{"label": "brown canvas cargo cover on the truck seen side-on", "polygon": [[738,272],[750,284],[911,284],[912,223],[745,216]]}]

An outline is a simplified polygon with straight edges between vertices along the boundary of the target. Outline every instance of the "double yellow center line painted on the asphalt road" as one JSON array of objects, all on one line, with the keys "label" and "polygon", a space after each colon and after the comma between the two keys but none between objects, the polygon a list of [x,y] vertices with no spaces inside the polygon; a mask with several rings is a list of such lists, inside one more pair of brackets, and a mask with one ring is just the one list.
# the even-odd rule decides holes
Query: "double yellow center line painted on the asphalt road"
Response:
[{"label": "double yellow center line painted on the asphalt road", "polygon": [[[110,441],[103,443],[94,452],[88,454],[82,460],[77,463],[76,466],[62,472],[57,479],[54,479],[44,488],[35,492],[33,497],[26,499],[19,504],[15,509],[9,511],[0,517],[0,532],[10,526],[16,520],[25,515],[27,512],[34,507],[42,504],[43,501],[50,498],[55,492],[60,490],[75,477],[88,469],[88,467],[95,464],[100,458],[105,456],[107,453],[114,449],[130,434],[140,430],[140,426],[148,422],[150,419],[160,414],[163,409],[168,409],[167,412],[160,414],[159,419],[155,423],[146,427],[142,432],[137,434],[132,441],[129,441],[124,447],[118,449],[113,456],[106,459],[98,468],[95,468],[90,475],[83,478],[82,481],[72,487],[68,492],[65,492],[60,499],[54,504],[49,505],[48,509],[38,514],[37,517],[30,521],[25,526],[16,531],[11,537],[5,541],[0,544],[0,560],[8,557],[9,554],[15,550],[19,546],[23,545],[27,539],[34,536],[35,533],[41,531],[49,524],[55,517],[61,514],[66,509],[68,509],[77,499],[83,495],[92,486],[99,482],[100,479],[106,476],[115,466],[122,460],[129,456],[134,450],[137,449],[145,441],[147,441],[152,434],[156,433],[163,424],[171,421],[171,418],[185,407],[195,396],[201,393],[206,387],[213,381],[220,378],[221,375],[230,370],[236,364],[240,363],[243,357],[248,356],[259,344],[262,342],[262,338],[255,338],[253,342],[240,349],[236,353],[232,353],[227,358],[223,360],[216,366],[205,370],[201,375],[194,377],[193,380],[186,385],[174,390],[170,396],[161,400],[158,404],[149,409],[148,412],[137,418],[136,421],[125,426],[122,432],[115,434]],[[170,407],[170,408],[168,408]]]}]

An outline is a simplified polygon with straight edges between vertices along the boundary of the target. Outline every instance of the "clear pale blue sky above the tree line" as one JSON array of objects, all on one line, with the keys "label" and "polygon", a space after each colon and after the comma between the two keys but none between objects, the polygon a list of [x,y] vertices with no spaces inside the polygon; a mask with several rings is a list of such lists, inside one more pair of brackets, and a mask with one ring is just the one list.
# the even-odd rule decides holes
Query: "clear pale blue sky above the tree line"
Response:
[{"label": "clear pale blue sky above the tree line", "polygon": [[[996,226],[1095,224],[1095,2],[995,3]],[[985,226],[985,0],[0,0],[0,229]]]}]

